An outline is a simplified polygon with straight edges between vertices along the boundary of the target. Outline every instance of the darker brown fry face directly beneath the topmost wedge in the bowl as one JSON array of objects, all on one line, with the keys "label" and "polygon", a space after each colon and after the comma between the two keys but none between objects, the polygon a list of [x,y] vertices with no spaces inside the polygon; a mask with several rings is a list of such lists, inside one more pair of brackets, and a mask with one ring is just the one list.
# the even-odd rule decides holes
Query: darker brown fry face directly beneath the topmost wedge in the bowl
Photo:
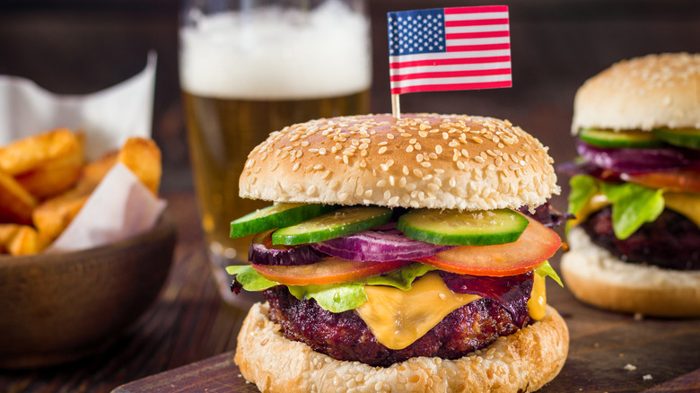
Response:
[{"label": "darker brown fry face directly beneath the topmost wedge in the bowl", "polygon": [[42,162],[14,179],[39,200],[57,196],[75,184],[83,170],[83,149]]}]

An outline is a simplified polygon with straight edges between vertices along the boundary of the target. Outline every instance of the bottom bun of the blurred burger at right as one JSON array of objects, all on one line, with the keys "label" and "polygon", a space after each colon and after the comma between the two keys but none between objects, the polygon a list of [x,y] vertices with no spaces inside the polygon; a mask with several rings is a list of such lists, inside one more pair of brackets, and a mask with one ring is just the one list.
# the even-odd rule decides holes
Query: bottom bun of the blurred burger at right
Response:
[{"label": "bottom bun of the blurred burger at right", "polygon": [[700,316],[700,271],[623,262],[573,227],[562,256],[566,287],[580,301],[652,317]]}]

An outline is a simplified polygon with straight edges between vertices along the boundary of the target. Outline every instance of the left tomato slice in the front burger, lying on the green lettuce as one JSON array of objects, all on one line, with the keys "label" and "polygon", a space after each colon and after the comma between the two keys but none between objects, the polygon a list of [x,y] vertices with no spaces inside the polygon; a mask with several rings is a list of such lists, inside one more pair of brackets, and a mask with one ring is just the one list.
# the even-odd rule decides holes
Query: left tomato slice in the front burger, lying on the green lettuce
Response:
[{"label": "left tomato slice in the front burger, lying on the green lettuce", "polygon": [[254,265],[254,269],[268,280],[288,285],[347,283],[372,275],[381,275],[411,264],[410,261],[354,262],[340,258],[324,258],[311,265],[270,266]]}]

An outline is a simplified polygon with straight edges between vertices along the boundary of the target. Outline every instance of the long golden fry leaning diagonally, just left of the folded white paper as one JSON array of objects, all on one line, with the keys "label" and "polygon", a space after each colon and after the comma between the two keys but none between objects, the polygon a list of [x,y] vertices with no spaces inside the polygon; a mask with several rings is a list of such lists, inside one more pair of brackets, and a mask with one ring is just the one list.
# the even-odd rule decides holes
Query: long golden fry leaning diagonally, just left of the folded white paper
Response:
[{"label": "long golden fry leaning diagonally, just left of the folded white paper", "polygon": [[85,165],[74,188],[47,199],[34,209],[31,218],[42,239],[55,240],[66,229],[116,162],[117,153],[109,153]]}]

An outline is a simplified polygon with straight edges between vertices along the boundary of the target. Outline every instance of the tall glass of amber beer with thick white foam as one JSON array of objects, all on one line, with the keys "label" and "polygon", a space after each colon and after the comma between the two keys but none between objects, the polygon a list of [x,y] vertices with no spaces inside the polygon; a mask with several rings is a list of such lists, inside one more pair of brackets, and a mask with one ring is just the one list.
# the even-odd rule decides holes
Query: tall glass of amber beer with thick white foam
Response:
[{"label": "tall glass of amber beer with thick white foam", "polygon": [[273,131],[369,111],[372,58],[364,0],[186,0],[179,81],[197,203],[214,277],[248,263],[252,236],[231,221],[267,201],[239,197],[248,153]]}]

